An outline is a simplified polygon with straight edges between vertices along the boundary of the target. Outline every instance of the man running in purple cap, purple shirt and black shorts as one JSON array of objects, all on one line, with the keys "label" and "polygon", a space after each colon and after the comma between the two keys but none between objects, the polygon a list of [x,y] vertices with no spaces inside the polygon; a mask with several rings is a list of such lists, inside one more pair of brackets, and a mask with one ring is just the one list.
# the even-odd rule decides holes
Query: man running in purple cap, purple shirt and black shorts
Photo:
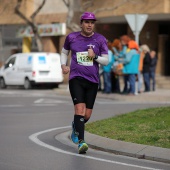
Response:
[{"label": "man running in purple cap, purple shirt and black shorts", "polygon": [[[79,154],[86,153],[85,123],[90,119],[99,84],[99,64],[108,64],[108,46],[104,36],[94,32],[96,17],[85,12],[80,18],[81,31],[67,35],[61,51],[61,68],[69,73],[69,90],[74,104],[71,139]],[[67,58],[71,51],[71,64]]]}]

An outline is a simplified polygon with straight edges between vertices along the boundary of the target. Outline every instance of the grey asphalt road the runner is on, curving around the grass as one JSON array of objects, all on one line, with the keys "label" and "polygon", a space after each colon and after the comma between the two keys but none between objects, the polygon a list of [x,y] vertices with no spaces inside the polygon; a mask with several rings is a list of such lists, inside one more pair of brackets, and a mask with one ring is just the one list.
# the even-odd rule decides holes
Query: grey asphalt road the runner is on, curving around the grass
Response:
[{"label": "grey asphalt road the runner is on, curving around the grass", "polygon": [[[166,106],[97,98],[90,121],[128,111]],[[170,169],[155,161],[89,149],[79,155],[64,132],[70,130],[73,105],[53,90],[0,90],[0,170],[139,170]]]}]

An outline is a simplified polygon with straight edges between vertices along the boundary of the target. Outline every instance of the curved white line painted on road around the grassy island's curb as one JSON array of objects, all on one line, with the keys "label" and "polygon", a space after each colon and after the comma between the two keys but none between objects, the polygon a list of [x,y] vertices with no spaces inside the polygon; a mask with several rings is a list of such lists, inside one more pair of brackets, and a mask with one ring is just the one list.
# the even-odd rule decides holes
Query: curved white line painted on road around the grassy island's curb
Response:
[{"label": "curved white line painted on road around the grassy island's curb", "polygon": [[77,157],[83,157],[83,158],[88,158],[88,159],[92,159],[92,160],[96,160],[96,161],[108,162],[108,163],[112,163],[112,164],[124,165],[124,166],[129,166],[129,167],[136,167],[136,168],[141,168],[141,169],[145,169],[145,170],[147,170],[147,169],[148,170],[160,170],[160,169],[155,169],[155,168],[150,168],[150,167],[127,164],[127,163],[122,163],[122,162],[117,162],[117,161],[112,161],[112,160],[107,160],[107,159],[101,159],[101,158],[96,158],[96,157],[93,157],[93,156],[80,155],[80,154],[64,151],[60,148],[56,148],[54,146],[48,145],[48,144],[46,144],[46,143],[44,143],[44,142],[42,142],[38,139],[38,136],[41,135],[41,134],[51,132],[51,131],[54,131],[54,130],[67,129],[67,128],[70,128],[70,127],[71,126],[64,126],[64,127],[53,128],[53,129],[47,129],[47,130],[37,132],[37,133],[30,135],[29,139],[31,141],[33,141],[34,143],[40,145],[40,146],[43,146],[45,148],[51,149],[51,150],[59,152],[59,153],[67,154],[67,155],[73,155],[73,156],[77,156]]}]

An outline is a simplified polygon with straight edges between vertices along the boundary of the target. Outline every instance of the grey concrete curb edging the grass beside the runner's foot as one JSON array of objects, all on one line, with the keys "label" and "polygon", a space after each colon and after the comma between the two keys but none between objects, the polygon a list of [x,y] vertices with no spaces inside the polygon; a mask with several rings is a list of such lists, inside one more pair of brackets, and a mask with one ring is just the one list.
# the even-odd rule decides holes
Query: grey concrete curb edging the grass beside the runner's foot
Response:
[{"label": "grey concrete curb edging the grass beside the runner's foot", "polygon": [[85,132],[89,147],[116,155],[170,163],[170,149],[123,142]]}]

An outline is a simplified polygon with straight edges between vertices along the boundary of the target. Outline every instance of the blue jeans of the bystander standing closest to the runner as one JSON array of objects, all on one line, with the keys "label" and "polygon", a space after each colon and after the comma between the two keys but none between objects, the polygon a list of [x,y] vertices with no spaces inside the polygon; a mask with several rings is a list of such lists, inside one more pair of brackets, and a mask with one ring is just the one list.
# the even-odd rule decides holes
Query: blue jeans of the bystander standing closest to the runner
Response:
[{"label": "blue jeans of the bystander standing closest to the runner", "polygon": [[111,86],[111,73],[110,72],[103,72],[103,81],[104,81],[104,92],[111,93],[112,86]]}]

